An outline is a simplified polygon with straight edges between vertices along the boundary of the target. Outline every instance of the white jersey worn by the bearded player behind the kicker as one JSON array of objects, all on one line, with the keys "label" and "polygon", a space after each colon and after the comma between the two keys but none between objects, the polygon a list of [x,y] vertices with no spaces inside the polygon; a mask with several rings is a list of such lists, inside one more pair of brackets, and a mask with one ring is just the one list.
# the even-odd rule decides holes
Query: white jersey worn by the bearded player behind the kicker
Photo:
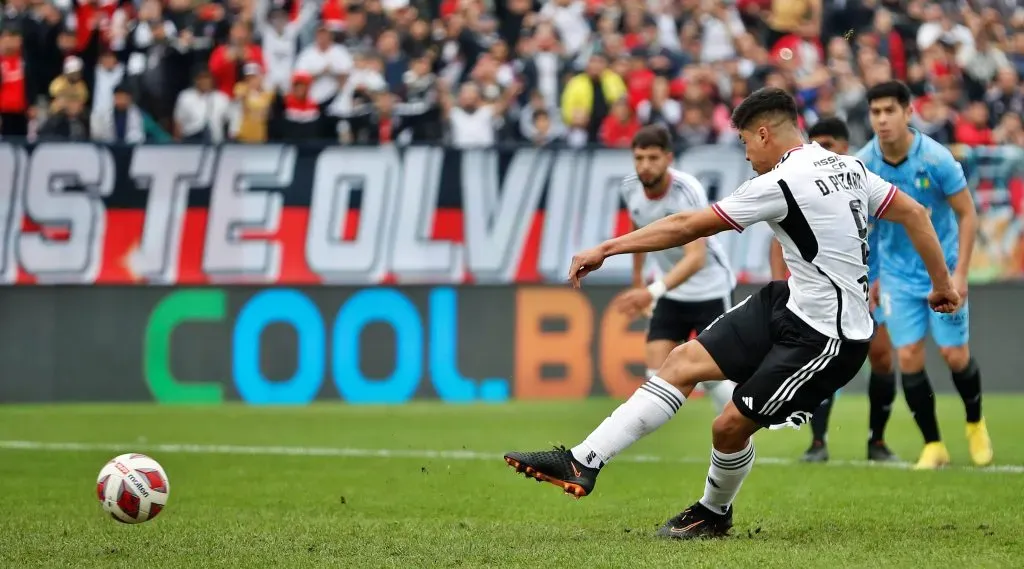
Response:
[{"label": "white jersey worn by the bearded player behind the kicker", "polygon": [[[669,189],[658,198],[648,198],[636,175],[623,179],[623,202],[630,218],[637,227],[649,225],[664,217],[683,211],[702,210],[708,207],[708,192],[700,182],[678,170],[669,169]],[[680,302],[701,302],[731,298],[736,277],[726,260],[725,250],[717,237],[708,237],[708,260],[703,267],[666,293],[665,298]],[[658,275],[672,270],[683,259],[683,248],[677,247],[648,253]]]}]

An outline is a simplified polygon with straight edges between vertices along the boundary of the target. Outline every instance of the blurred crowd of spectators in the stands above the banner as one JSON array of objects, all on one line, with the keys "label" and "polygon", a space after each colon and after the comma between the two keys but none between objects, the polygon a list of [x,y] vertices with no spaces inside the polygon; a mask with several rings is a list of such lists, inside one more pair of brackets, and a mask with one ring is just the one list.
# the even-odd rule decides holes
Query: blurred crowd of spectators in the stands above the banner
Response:
[{"label": "blurred crowd of spectators in the stands above the banner", "polygon": [[1017,0],[3,0],[4,138],[737,143],[762,86],[867,136],[916,95],[940,142],[1024,144]]}]

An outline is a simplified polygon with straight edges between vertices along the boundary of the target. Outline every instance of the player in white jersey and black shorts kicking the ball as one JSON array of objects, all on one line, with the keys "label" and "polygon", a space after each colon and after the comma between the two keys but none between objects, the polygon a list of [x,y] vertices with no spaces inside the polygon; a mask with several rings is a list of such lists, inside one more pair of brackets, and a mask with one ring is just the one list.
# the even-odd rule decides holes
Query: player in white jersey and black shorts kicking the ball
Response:
[{"label": "player in white jersey and black shorts kicking the ball", "polygon": [[683,247],[766,221],[782,244],[788,281],[763,287],[673,349],[657,375],[572,449],[505,455],[517,472],[585,496],[601,469],[672,419],[698,383],[735,381],[732,401],[712,427],[703,497],[657,531],[666,537],[725,535],[732,501],[754,465],[754,433],[806,423],[864,363],[874,331],[867,306],[868,215],[905,229],[931,276],[932,309],[952,313],[961,304],[925,208],[858,160],[805,144],[788,93],[753,93],[732,122],[758,177],[710,208],[671,215],[577,254],[569,279],[579,287],[612,255]]}]

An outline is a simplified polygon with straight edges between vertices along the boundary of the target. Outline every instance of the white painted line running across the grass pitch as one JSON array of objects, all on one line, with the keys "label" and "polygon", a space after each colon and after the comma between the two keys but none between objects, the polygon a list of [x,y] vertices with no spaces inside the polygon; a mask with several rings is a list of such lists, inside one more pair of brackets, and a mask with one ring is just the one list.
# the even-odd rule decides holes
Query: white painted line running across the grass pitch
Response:
[{"label": "white painted line running across the grass pitch", "polygon": [[[43,450],[43,451],[109,451],[132,452],[146,451],[165,454],[248,454],[276,456],[336,456],[343,458],[444,458],[449,461],[500,461],[502,455],[497,452],[480,452],[477,450],[427,450],[427,449],[389,449],[389,448],[344,448],[316,446],[248,446],[237,444],[150,444],[150,443],[92,443],[92,442],[43,442],[0,440],[0,450]],[[648,464],[682,464],[706,465],[708,458],[682,456],[665,457],[651,454],[623,454],[615,458],[616,463],[648,463]],[[794,458],[774,456],[758,456],[756,462],[761,465],[792,466],[801,464]],[[829,461],[829,467],[854,468],[891,468],[908,470],[910,463],[870,463],[868,461]],[[995,465],[986,468],[948,467],[946,470],[975,473],[1006,473],[1024,474],[1022,465]]]}]

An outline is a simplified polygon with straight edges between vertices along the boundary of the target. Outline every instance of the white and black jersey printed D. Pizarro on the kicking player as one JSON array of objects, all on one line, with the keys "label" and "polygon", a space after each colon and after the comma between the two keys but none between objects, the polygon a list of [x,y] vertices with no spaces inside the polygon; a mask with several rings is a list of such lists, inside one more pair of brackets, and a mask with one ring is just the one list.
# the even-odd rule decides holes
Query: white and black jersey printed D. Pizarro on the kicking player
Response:
[{"label": "white and black jersey printed D. Pizarro on the kicking player", "polygon": [[881,217],[895,195],[859,160],[811,143],[712,208],[737,231],[768,222],[790,268],[786,308],[828,338],[859,342],[874,330],[867,218]]}]

